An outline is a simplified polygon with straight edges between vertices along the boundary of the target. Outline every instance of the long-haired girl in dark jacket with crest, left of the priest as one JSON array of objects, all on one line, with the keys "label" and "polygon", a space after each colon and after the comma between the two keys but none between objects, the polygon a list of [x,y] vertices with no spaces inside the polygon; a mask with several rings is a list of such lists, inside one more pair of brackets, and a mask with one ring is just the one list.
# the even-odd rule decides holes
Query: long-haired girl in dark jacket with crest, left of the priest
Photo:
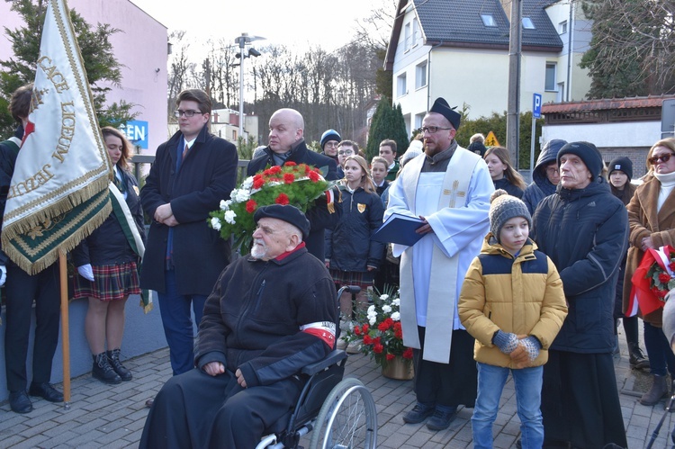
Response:
[{"label": "long-haired girl in dark jacket with crest, left of the priest", "polygon": [[[365,309],[368,303],[366,292],[373,288],[374,270],[379,268],[384,256],[384,245],[371,240],[382,226],[384,207],[363,157],[347,157],[345,178],[339,189],[342,215],[335,229],[326,232],[326,266],[338,286],[361,287],[361,292],[356,295],[356,306]],[[340,298],[340,311],[340,327],[347,328],[353,315],[351,293],[346,292]],[[345,346],[344,340],[338,341],[338,347]],[[347,352],[358,352],[358,345],[351,344]]]}]

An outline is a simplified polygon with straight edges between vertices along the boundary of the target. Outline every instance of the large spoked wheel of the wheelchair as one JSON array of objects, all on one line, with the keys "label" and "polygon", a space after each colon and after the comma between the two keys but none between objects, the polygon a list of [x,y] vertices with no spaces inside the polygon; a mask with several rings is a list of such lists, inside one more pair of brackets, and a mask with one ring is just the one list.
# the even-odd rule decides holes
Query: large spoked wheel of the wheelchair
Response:
[{"label": "large spoked wheel of the wheelchair", "polygon": [[377,409],[358,379],[343,379],[330,391],[311,432],[311,449],[365,448],[377,445]]}]

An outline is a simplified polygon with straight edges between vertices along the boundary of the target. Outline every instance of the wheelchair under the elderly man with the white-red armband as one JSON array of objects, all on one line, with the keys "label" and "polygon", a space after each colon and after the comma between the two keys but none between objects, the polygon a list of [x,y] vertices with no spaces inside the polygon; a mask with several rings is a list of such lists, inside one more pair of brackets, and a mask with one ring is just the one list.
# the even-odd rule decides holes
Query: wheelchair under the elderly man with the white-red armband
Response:
[{"label": "wheelchair under the elderly man with the white-red armband", "polygon": [[[352,295],[356,286],[338,291]],[[339,308],[339,305],[338,305]],[[339,309],[338,309],[339,311]],[[336,341],[339,337],[339,313]],[[309,448],[368,448],[377,446],[377,409],[370,391],[355,378],[345,378],[347,353],[334,349],[323,360],[302,369],[305,383],[300,398],[288,414],[267,429],[257,449],[298,448],[302,436],[311,432]]]}]

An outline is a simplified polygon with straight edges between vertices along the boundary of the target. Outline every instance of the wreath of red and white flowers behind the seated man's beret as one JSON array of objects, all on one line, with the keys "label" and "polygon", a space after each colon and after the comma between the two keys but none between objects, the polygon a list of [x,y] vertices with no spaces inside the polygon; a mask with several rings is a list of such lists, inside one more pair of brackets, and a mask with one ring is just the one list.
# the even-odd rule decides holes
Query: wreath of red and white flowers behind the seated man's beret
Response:
[{"label": "wreath of red and white flowers behind the seated man's beret", "polygon": [[220,232],[220,237],[234,236],[234,247],[247,253],[251,245],[257,209],[270,204],[292,204],[303,212],[331,187],[320,169],[306,164],[286,162],[248,176],[229,194],[229,200],[220,201],[220,209],[209,215],[209,225]]}]

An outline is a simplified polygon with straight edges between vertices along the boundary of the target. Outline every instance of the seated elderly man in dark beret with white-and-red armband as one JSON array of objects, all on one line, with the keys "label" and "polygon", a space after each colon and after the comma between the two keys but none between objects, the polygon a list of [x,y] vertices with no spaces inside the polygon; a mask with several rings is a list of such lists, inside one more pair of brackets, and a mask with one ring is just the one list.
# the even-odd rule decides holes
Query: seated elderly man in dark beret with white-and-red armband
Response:
[{"label": "seated elderly man in dark beret with white-and-red armband", "polygon": [[250,256],[220,274],[204,305],[196,368],[155,398],[141,448],[255,447],[293,408],[302,367],[335,346],[335,285],[293,206],[258,209]]}]

